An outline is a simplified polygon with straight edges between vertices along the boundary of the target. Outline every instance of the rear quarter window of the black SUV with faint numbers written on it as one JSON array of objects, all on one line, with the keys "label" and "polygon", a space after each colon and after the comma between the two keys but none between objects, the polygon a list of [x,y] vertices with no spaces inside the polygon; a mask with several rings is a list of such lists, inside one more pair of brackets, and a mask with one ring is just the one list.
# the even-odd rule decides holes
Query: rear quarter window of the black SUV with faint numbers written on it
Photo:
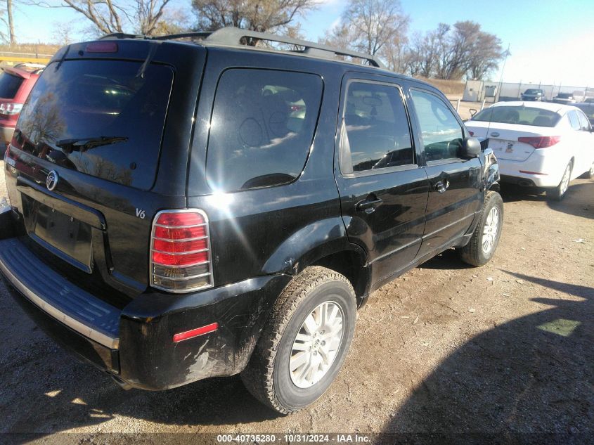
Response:
[{"label": "rear quarter window of the black SUV with faint numbers written on it", "polygon": [[214,191],[290,183],[301,174],[322,97],[317,75],[227,70],[214,98],[206,173]]}]

